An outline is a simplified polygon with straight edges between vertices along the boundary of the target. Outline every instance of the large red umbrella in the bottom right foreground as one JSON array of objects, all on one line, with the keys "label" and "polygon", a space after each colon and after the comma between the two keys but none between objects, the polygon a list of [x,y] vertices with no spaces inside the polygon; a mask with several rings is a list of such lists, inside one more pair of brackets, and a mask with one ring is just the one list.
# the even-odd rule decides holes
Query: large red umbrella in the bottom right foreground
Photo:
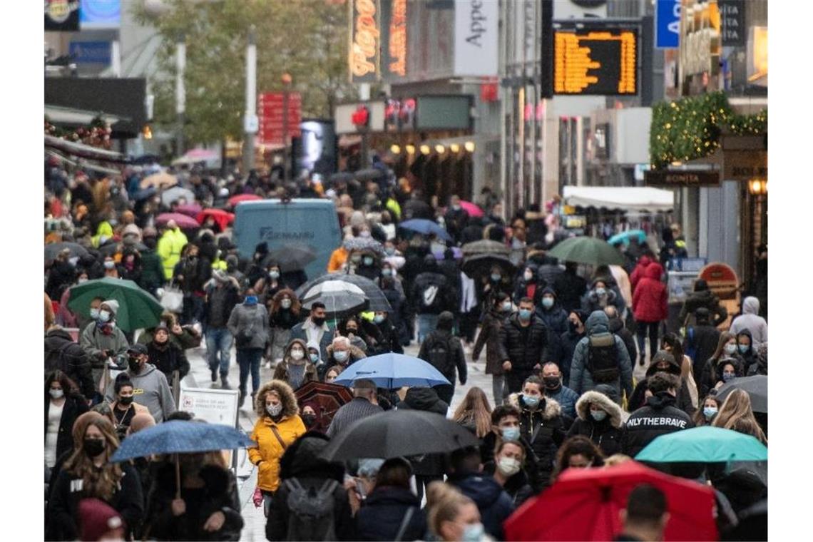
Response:
[{"label": "large red umbrella in the bottom right foreground", "polygon": [[556,483],[503,523],[506,540],[613,540],[629,492],[650,483],[665,495],[669,522],[663,540],[718,540],[714,490],[630,461],[565,470]]}]

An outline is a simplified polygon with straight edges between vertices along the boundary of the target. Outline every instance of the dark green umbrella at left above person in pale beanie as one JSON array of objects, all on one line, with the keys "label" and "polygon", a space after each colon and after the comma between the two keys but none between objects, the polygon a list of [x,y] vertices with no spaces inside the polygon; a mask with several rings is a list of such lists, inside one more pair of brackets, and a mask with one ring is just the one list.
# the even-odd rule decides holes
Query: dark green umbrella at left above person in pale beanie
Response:
[{"label": "dark green umbrella at left above person in pale beanie", "polygon": [[125,332],[155,327],[159,323],[163,307],[149,292],[139,288],[132,280],[103,279],[88,280],[70,290],[69,309],[80,314],[89,314],[93,297],[119,301],[116,325]]}]

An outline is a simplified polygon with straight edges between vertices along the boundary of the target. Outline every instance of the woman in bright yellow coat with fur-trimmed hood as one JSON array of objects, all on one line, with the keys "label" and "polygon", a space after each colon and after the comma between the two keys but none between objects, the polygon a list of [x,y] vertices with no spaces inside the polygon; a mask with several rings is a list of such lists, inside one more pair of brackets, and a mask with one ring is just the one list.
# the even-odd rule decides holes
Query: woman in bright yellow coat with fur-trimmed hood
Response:
[{"label": "woman in bright yellow coat with fur-trimmed hood", "polygon": [[265,514],[280,487],[280,457],[307,429],[299,417],[293,389],[282,380],[272,380],[259,388],[254,401],[257,423],[251,432],[256,448],[249,449],[249,461],[259,469],[257,485],[263,492]]}]

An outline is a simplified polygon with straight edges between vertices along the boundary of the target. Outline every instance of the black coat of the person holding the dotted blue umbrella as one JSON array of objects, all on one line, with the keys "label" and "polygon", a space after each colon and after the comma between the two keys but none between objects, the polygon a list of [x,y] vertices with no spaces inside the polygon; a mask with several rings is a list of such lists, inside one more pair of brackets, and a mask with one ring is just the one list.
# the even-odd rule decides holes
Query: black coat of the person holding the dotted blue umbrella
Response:
[{"label": "black coat of the person holding the dotted blue umbrella", "polygon": [[[184,488],[181,484],[180,498],[186,501],[186,512],[173,516],[175,463],[158,467],[147,505],[145,531],[150,540],[240,540],[243,518],[234,475],[215,465],[203,466],[199,475],[204,483],[202,489]],[[180,476],[182,480],[183,472]],[[220,531],[204,531],[203,525],[215,512],[223,512],[223,527]]]}]

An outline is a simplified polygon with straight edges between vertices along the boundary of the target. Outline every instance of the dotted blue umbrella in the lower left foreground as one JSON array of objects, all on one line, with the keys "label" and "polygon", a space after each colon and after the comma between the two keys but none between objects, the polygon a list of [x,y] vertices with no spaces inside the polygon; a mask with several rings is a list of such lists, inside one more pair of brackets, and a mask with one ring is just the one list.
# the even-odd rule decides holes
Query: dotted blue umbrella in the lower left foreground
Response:
[{"label": "dotted blue umbrella in the lower left foreground", "polygon": [[112,462],[158,453],[196,453],[256,446],[234,427],[220,423],[172,420],[128,436],[115,451]]}]

